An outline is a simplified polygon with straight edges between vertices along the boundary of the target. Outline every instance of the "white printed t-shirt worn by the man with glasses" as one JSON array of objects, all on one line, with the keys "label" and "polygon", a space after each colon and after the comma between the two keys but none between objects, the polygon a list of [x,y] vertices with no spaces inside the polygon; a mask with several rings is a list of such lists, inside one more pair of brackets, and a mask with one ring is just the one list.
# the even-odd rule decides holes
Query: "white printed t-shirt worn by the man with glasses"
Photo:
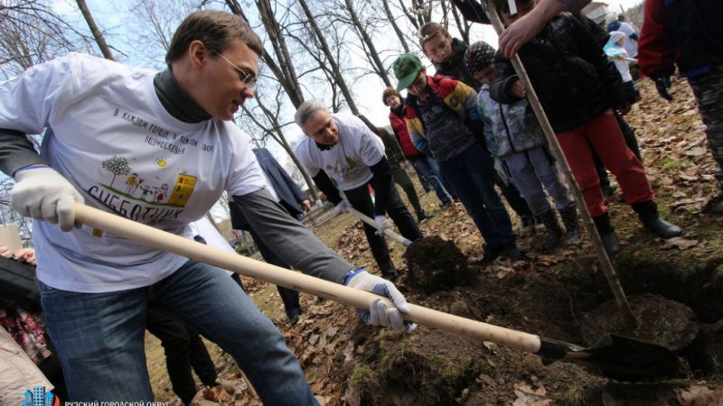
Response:
[{"label": "white printed t-shirt worn by the man with glasses", "polygon": [[[155,72],[78,53],[0,83],[0,128],[39,134],[41,155],[89,206],[192,237],[224,190],[266,186],[249,135],[230,121],[183,123],[155,94]],[[121,291],[153,284],[186,258],[89,226],[33,223],[38,279],[57,289]]]}]

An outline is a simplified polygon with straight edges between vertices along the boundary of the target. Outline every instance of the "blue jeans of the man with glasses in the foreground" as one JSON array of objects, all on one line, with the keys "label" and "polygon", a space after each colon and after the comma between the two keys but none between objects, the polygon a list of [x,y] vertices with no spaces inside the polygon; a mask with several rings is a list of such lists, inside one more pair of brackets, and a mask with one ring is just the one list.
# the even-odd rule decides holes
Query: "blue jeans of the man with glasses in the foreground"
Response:
[{"label": "blue jeans of the man with glasses in the foreground", "polygon": [[71,401],[153,401],[144,350],[150,296],[232,355],[264,404],[318,404],[273,323],[228,273],[194,261],[128,291],[77,293],[41,283]]}]

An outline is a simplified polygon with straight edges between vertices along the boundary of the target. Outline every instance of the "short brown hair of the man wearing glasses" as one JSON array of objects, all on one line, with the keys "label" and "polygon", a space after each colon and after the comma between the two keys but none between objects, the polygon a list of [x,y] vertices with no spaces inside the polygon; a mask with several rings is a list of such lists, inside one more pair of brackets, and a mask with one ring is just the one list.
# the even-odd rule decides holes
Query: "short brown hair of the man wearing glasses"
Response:
[{"label": "short brown hair of the man wearing glasses", "polygon": [[236,14],[202,10],[188,14],[175,30],[174,38],[165,54],[165,63],[181,58],[191,42],[201,41],[212,51],[223,52],[234,40],[240,40],[261,56],[264,52],[261,39],[251,31],[249,23]]}]

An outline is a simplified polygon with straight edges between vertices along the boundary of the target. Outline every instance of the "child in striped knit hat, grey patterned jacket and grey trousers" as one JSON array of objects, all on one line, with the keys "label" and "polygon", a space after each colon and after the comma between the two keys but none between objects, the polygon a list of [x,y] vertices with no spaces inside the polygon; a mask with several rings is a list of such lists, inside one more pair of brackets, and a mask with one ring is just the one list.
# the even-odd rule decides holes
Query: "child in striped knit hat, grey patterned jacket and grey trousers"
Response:
[{"label": "child in striped knit hat, grey patterned jacket and grey trousers", "polygon": [[[477,109],[484,123],[487,148],[495,159],[495,168],[502,172],[503,177],[512,180],[532,213],[547,228],[541,251],[551,251],[560,243],[578,245],[581,236],[575,198],[549,153],[545,135],[530,103],[527,98],[522,98],[516,103],[501,105],[490,97],[490,84],[497,73],[495,54],[496,51],[486,42],[476,42],[465,51],[465,69],[483,83],[477,95]],[[564,232],[545,190],[555,199],[565,224]]]}]

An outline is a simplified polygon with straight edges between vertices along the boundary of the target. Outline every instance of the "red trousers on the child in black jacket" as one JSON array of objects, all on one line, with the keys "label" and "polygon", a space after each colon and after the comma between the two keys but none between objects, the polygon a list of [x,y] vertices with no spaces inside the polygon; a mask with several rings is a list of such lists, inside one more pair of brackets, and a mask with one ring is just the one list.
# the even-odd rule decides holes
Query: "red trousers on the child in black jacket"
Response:
[{"label": "red trousers on the child in black jacket", "polygon": [[606,168],[615,175],[628,204],[652,200],[655,197],[645,177],[643,164],[625,145],[623,133],[620,132],[620,126],[617,125],[612,111],[556,135],[592,217],[605,214],[607,208],[590,145],[595,148]]}]

